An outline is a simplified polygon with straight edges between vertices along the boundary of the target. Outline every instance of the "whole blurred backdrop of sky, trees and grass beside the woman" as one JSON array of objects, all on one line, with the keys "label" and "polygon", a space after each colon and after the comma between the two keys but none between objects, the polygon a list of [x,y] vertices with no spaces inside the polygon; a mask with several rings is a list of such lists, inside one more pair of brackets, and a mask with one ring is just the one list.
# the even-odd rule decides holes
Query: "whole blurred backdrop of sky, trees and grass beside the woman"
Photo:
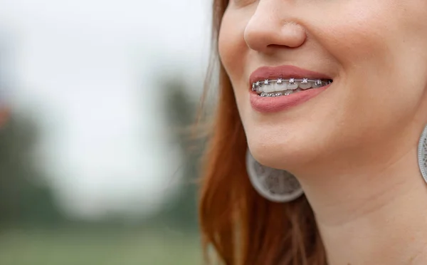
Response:
[{"label": "whole blurred backdrop of sky, trees and grass beside the woman", "polygon": [[0,3],[0,264],[202,264],[210,1]]}]

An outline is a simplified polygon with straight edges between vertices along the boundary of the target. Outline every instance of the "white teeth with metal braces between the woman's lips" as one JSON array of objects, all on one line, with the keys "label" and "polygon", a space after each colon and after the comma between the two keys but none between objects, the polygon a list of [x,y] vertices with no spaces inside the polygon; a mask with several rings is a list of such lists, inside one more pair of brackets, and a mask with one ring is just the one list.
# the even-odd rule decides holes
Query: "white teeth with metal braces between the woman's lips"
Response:
[{"label": "white teeth with metal braces between the woman's lips", "polygon": [[332,83],[332,79],[265,79],[252,83],[252,90],[261,97],[279,97],[291,95],[303,90],[322,88]]}]

